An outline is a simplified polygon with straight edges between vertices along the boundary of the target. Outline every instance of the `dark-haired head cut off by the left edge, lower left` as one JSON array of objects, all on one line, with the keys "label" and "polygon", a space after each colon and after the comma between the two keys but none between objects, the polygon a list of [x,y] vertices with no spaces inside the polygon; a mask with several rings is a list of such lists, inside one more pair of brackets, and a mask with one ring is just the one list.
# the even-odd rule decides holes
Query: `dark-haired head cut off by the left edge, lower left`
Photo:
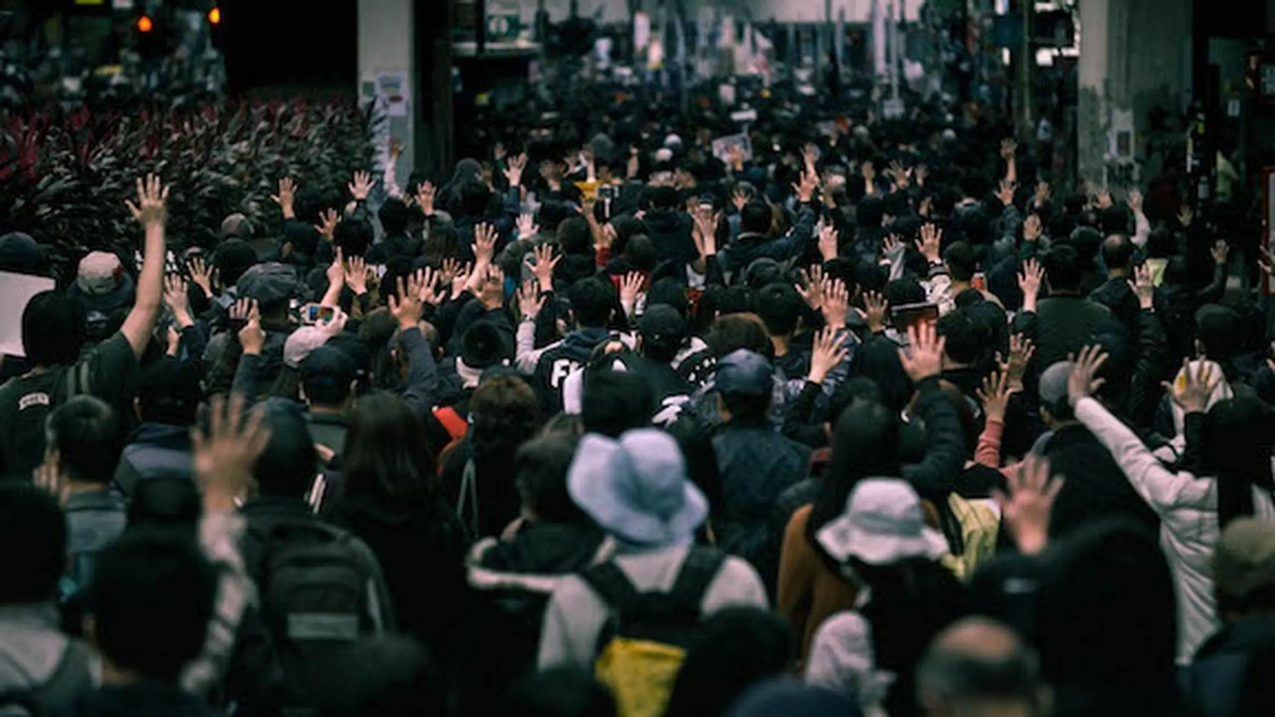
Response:
[{"label": "dark-haired head cut off by the left edge, lower left", "polygon": [[0,485],[0,540],[8,546],[0,605],[56,598],[66,569],[66,518],[57,500],[31,484]]}]

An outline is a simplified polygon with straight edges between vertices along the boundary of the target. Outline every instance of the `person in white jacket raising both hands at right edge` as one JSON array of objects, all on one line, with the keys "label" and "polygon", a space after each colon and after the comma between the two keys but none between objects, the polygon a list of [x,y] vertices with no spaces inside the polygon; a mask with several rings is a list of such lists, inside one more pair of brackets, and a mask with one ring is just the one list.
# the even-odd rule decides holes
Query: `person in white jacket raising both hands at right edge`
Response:
[{"label": "person in white jacket raising both hands at right edge", "polygon": [[1093,397],[1103,384],[1096,376],[1105,360],[1098,347],[1080,352],[1068,378],[1068,398],[1076,418],[1112,452],[1133,490],[1160,517],[1160,547],[1177,583],[1177,658],[1184,665],[1219,626],[1210,559],[1221,529],[1243,515],[1275,521],[1275,410],[1256,398],[1235,398],[1205,413],[1220,376],[1207,362],[1198,362],[1184,380],[1169,387],[1187,415],[1187,426],[1192,415],[1202,415],[1198,459],[1184,461],[1174,472]]}]

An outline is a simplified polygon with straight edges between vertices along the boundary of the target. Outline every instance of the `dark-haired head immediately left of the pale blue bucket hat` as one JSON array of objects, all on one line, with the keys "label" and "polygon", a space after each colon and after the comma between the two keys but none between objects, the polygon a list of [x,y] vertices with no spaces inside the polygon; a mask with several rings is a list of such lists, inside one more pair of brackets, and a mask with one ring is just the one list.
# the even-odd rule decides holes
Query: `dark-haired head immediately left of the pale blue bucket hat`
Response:
[{"label": "dark-haired head immediately left of the pale blue bucket hat", "polygon": [[546,523],[588,523],[588,517],[566,490],[566,473],[575,455],[575,436],[542,434],[519,447],[514,475],[523,505]]}]

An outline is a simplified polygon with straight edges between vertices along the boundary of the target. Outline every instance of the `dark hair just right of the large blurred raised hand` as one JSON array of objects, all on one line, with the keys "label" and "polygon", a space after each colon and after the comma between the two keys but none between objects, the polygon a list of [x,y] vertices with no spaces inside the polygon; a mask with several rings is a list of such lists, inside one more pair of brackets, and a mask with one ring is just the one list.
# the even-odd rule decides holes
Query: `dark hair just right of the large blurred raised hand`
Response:
[{"label": "dark hair just right of the large blurred raised hand", "polygon": [[314,485],[319,455],[300,406],[282,398],[269,399],[264,424],[270,427],[270,441],[252,466],[258,489],[273,498],[303,496]]}]

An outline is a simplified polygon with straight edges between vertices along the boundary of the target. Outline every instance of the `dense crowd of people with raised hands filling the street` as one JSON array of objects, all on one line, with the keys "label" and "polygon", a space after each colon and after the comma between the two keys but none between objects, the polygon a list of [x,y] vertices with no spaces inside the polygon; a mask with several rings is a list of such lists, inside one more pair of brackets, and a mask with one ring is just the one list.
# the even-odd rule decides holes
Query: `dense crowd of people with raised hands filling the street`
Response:
[{"label": "dense crowd of people with raised hands filling the street", "polygon": [[280,177],[213,249],[140,177],[3,366],[0,714],[1275,709],[1235,237],[975,111],[704,130]]}]

